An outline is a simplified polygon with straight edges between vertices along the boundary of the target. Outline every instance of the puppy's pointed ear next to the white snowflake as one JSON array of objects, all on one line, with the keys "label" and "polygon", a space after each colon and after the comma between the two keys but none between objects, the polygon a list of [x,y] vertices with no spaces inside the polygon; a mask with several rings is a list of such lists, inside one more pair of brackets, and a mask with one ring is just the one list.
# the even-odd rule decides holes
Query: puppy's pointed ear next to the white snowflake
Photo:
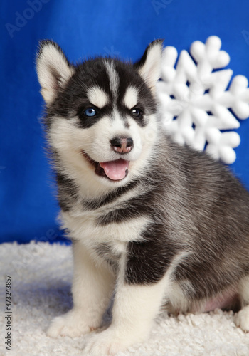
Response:
[{"label": "puppy's pointed ear next to the white snowflake", "polygon": [[161,75],[161,53],[163,40],[156,40],[149,43],[144,55],[137,63],[134,63],[138,73],[147,83],[148,87],[154,92],[157,80]]}]

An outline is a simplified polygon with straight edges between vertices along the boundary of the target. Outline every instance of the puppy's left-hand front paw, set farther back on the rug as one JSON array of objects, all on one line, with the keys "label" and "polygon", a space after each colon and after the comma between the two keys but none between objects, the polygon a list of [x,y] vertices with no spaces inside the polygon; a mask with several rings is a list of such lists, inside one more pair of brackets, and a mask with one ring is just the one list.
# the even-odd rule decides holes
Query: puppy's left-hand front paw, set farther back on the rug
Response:
[{"label": "puppy's left-hand front paw, set farther back on the rug", "polygon": [[79,310],[70,310],[62,316],[58,316],[52,320],[51,325],[47,330],[47,335],[50,337],[70,336],[79,337],[90,333],[95,328],[98,328],[99,323],[88,323],[84,320],[84,315]]}]

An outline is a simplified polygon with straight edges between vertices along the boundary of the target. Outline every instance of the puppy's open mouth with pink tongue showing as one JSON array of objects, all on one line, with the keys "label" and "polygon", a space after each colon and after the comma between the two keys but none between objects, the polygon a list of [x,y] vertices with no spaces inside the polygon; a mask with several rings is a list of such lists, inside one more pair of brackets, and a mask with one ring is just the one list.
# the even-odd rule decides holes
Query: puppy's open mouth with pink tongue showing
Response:
[{"label": "puppy's open mouth with pink tongue showing", "polygon": [[127,177],[129,172],[129,161],[126,159],[116,159],[110,162],[96,162],[84,151],[81,152],[83,157],[95,167],[95,173],[100,177],[106,177],[111,181],[120,181]]}]

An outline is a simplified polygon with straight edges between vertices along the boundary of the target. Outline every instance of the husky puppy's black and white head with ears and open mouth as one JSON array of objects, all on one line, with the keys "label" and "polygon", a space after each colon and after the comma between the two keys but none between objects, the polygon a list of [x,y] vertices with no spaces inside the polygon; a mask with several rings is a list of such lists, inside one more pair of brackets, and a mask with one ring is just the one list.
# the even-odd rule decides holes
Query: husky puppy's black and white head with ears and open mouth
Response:
[{"label": "husky puppy's black and white head with ears and open mouth", "polygon": [[59,169],[110,187],[143,173],[157,137],[161,47],[150,43],[134,64],[99,57],[73,66],[56,43],[41,42],[37,72]]}]

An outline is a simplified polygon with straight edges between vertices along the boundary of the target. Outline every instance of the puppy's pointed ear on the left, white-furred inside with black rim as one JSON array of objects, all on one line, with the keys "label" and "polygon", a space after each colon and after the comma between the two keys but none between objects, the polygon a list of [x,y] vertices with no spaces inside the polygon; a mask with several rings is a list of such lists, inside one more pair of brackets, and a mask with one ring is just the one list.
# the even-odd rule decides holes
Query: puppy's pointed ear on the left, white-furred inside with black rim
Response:
[{"label": "puppy's pointed ear on the left, white-furred inside with black rim", "polygon": [[52,103],[60,88],[74,73],[74,67],[69,63],[57,43],[49,40],[41,41],[36,58],[36,70],[41,84],[41,95],[46,104]]}]

